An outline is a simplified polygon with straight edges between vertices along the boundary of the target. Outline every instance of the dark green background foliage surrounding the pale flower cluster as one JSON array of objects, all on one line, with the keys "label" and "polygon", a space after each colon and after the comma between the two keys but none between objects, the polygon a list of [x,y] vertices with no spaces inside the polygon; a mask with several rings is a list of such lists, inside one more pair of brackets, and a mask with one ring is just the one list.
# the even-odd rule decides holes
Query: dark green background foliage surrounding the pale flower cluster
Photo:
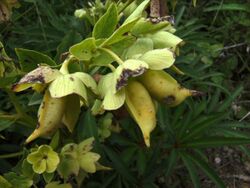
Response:
[{"label": "dark green background foliage surrounding the pale flower cluster", "polygon": [[[206,96],[190,98],[175,108],[161,105],[150,149],[142,144],[133,120],[120,114],[114,114],[113,122],[119,123],[121,133],[112,132],[102,142],[98,137],[100,120],[84,111],[75,141],[96,137],[95,150],[102,156],[102,163],[113,168],[91,175],[84,182],[86,187],[179,187],[184,182],[192,187],[191,181],[194,187],[200,187],[201,174],[224,187],[209,164],[206,149],[237,145],[242,152],[250,153],[241,145],[250,142],[246,116],[250,112],[249,1],[197,1],[195,7],[185,0],[168,3],[170,14],[175,16],[176,35],[186,43],[176,63],[185,72],[178,76],[179,81],[206,92]],[[43,52],[59,63],[63,52],[91,33],[88,21],[74,17],[75,9],[88,6],[88,2],[25,0],[21,5],[9,22],[0,25],[0,40],[14,59],[14,48],[20,47]],[[19,72],[13,82],[22,75]],[[18,101],[25,114],[35,118],[40,98],[29,92],[14,96],[1,89],[0,113],[15,115]],[[20,143],[32,131],[28,125],[32,123],[0,117],[1,174],[13,168],[18,172],[19,154],[26,150]],[[63,139],[60,142],[67,143]],[[39,139],[34,145],[43,143],[49,142]]]}]

